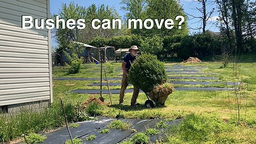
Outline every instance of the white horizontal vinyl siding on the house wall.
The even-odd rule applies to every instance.
[[[48,0],[0,0],[0,106],[51,100],[48,29],[21,29],[21,15],[50,17]]]

